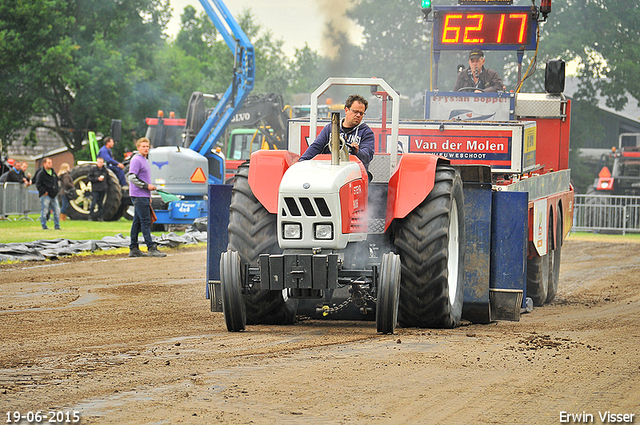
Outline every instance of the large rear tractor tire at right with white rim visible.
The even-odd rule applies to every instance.
[[[429,196],[394,226],[402,262],[398,322],[454,328],[462,317],[464,203],[459,172],[438,165]]]

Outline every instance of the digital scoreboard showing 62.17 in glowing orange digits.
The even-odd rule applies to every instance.
[[[534,50],[537,10],[532,6],[434,7],[434,50]]]

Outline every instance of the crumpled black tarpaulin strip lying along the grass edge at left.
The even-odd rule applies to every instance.
[[[153,241],[159,246],[176,247],[178,245],[193,245],[207,242],[207,232],[188,230],[184,235],[175,233],[153,236]],[[0,261],[43,261],[47,258],[57,258],[78,254],[83,251],[106,251],[109,249],[129,247],[131,238],[118,233],[115,236],[105,236],[101,240],[72,241],[69,239],[41,239],[35,242],[0,243]],[[144,245],[144,239],[140,238]]]

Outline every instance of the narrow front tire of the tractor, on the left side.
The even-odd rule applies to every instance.
[[[247,324],[247,312],[242,299],[240,256],[235,251],[226,251],[220,256],[220,290],[227,330],[243,331]]]

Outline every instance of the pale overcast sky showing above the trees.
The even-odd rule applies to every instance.
[[[326,12],[327,5],[330,5],[332,0],[223,1],[234,17],[237,17],[244,9],[251,8],[253,16],[263,30],[271,30],[276,39],[284,41],[283,49],[288,56],[293,57],[295,49],[303,48],[305,42],[312,50],[327,54],[322,48],[322,30],[325,27],[325,16],[318,5],[324,4]],[[340,3],[344,5],[348,2],[343,0]],[[188,5],[193,6],[198,12],[204,10],[199,0],[171,0],[173,18],[169,23],[170,35],[175,36],[178,32],[180,15],[185,6]],[[358,33],[355,30],[353,31],[352,41],[356,42],[357,37]]]

